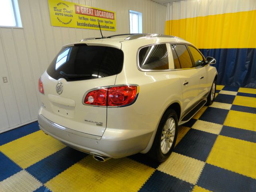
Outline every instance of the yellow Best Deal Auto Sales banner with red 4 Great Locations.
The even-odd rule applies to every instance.
[[[116,31],[116,12],[75,4],[62,0],[48,0],[52,26]]]

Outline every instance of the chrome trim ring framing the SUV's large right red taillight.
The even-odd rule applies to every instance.
[[[91,92],[91,91],[94,91],[94,90],[98,90],[98,89],[103,89],[103,88],[110,88],[110,87],[118,87],[118,86],[136,86],[137,87],[137,93],[136,93],[136,96],[133,100],[133,102],[131,102],[130,104],[127,104],[127,105],[122,105],[122,106],[98,106],[98,105],[88,105],[88,104],[85,104],[84,103],[84,99],[86,97],[86,95]],[[140,92],[140,86],[137,85],[137,84],[119,84],[119,85],[110,85],[110,86],[104,86],[104,87],[97,87],[97,88],[93,88],[93,89],[90,89],[88,91],[86,91],[84,93],[84,96],[82,98],[82,104],[83,105],[86,105],[86,106],[94,106],[94,107],[104,107],[104,108],[120,108],[120,107],[126,107],[126,106],[130,106],[132,104],[134,104],[134,102],[136,102],[137,98],[138,98],[138,95],[139,95],[139,92]]]

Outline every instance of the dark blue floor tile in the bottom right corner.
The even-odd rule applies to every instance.
[[[197,182],[198,186],[210,191],[255,192],[256,180],[210,164],[204,169]]]

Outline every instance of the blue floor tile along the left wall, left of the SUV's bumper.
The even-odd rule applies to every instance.
[[[38,122],[33,122],[22,127],[4,132],[0,134],[0,145],[6,144],[23,136],[26,136],[30,133],[36,132],[39,130]]]

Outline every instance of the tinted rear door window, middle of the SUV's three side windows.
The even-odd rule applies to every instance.
[[[193,64],[185,45],[173,45],[180,61],[181,68],[192,68]]]

